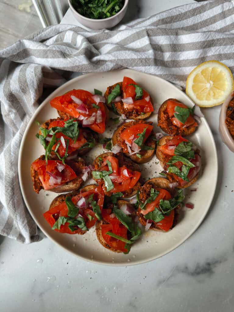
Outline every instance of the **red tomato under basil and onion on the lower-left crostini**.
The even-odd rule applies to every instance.
[[[97,221],[97,217],[95,216],[95,212],[93,212],[93,208],[91,206],[91,202],[88,202],[87,199],[90,195],[93,195],[93,200],[97,202],[97,204],[100,207],[100,210],[102,211],[103,202],[104,202],[104,192],[100,186],[93,188],[87,192],[83,192],[79,195],[76,195],[72,197],[72,202],[76,205],[77,202],[80,200],[81,197],[85,198],[85,207],[79,208],[78,214],[81,215],[84,220],[86,227],[89,229],[90,227],[93,227]],[[66,202],[62,202],[61,204],[49,209],[47,212],[43,214],[46,221],[50,224],[51,227],[53,227],[54,223],[59,217],[68,217],[68,208],[66,205]],[[91,220],[90,220],[91,217]],[[82,230],[79,227],[76,227],[76,230],[72,232],[69,229],[69,223],[66,222],[64,225],[61,225],[60,230],[55,229],[56,232],[60,233],[68,233],[68,234],[77,234],[81,233]]]

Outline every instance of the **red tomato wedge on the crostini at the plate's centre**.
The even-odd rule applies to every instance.
[[[119,167],[118,159],[113,156],[108,156],[105,159],[100,168],[100,171],[109,170],[108,166],[106,165],[107,160],[110,161],[113,170],[113,173],[111,173],[109,176],[113,177],[111,180],[114,185],[114,188],[112,188],[110,192],[111,193],[124,192],[133,188],[134,185],[139,180],[141,173],[139,171],[131,170],[125,166]],[[124,171],[125,169],[127,170],[127,174],[129,175],[129,177],[124,175],[124,173],[126,173],[126,171]]]

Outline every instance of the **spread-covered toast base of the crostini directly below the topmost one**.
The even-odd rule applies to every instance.
[[[152,131],[152,134],[147,138],[144,145],[147,145],[149,147],[152,147],[151,150],[141,150],[138,154],[141,155],[141,158],[137,157],[136,154],[129,155],[127,144],[124,142],[124,140],[121,137],[121,134],[123,131],[127,128],[130,128],[134,124],[152,124],[152,122],[147,122],[144,120],[139,121],[129,121],[124,124],[122,124],[119,128],[117,128],[112,136],[112,143],[113,145],[118,144],[123,148],[123,153],[127,156],[129,156],[135,163],[148,163],[150,159],[154,156],[154,149],[156,146],[155,141],[153,140],[154,131]]]

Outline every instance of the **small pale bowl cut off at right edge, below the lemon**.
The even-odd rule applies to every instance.
[[[221,134],[223,142],[227,145],[227,147],[234,152],[234,139],[232,138],[231,133],[227,129],[227,124],[225,123],[225,119],[227,116],[227,108],[230,103],[230,101],[234,97],[234,92],[227,97],[227,99],[224,101],[220,115],[219,115],[219,133]]]

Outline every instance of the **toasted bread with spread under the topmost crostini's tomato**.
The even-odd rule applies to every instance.
[[[121,90],[121,98],[123,98],[123,92],[122,92],[122,82],[117,82],[114,85],[110,85],[107,89],[106,92],[104,94],[105,99],[106,99],[106,103],[108,103],[108,95],[111,94],[112,90],[116,87],[116,85],[120,86],[120,90]],[[150,97],[150,101],[153,104],[153,100]],[[124,103],[122,101],[119,102],[115,102],[115,103],[109,103],[107,104],[107,106],[112,109],[114,111],[114,113],[119,114],[119,115],[125,115],[128,119],[134,119],[134,120],[139,120],[139,119],[147,119],[149,118],[149,116],[151,115],[150,113],[144,113],[141,114],[135,110],[130,111],[127,110],[126,108],[124,108]]]

